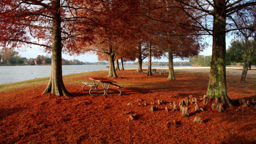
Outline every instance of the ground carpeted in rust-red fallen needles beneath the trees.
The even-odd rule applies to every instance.
[[[227,71],[228,96],[256,100],[255,70],[248,73],[246,84],[239,82],[241,72]],[[254,105],[236,111],[241,105],[234,104],[219,113],[212,110],[213,101],[207,106],[200,101],[204,111],[195,112],[195,105],[190,104],[188,117],[173,112],[170,102],[179,104],[189,95],[203,97],[209,80],[209,70],[175,73],[177,80],[173,81],[166,80],[168,75],[146,76],[134,70],[117,71],[118,78],[106,78],[106,70],[68,75],[63,80],[69,98],[42,95],[48,83],[45,79],[13,83],[9,89],[0,85],[0,143],[256,143]],[[114,87],[108,91],[113,96],[89,95],[82,90],[82,82],[92,84],[89,77],[116,81],[124,87],[122,95]],[[157,100],[163,104],[158,105]],[[133,105],[128,106],[129,102]],[[145,102],[149,105],[144,106]],[[159,110],[150,112],[152,105]],[[171,110],[167,112],[165,107]],[[130,120],[135,114],[135,120]],[[194,123],[195,116],[204,122]]]

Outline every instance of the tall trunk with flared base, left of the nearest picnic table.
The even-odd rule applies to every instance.
[[[70,93],[66,90],[62,79],[61,65],[61,18],[60,18],[60,0],[53,1],[54,10],[52,20],[52,64],[49,83],[43,94],[52,92],[54,95],[68,96]]]

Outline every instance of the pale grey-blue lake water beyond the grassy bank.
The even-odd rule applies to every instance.
[[[95,70],[106,70],[108,65],[62,65],[62,75],[73,73],[82,73]],[[121,68],[121,65],[119,65]],[[159,68],[164,66],[152,66],[152,68]],[[183,66],[174,66],[183,67]],[[190,67],[190,66],[189,66]],[[137,65],[124,65],[125,68],[137,68]],[[148,68],[148,66],[142,66]],[[50,65],[36,65],[36,66],[0,66],[0,84],[13,83],[25,81],[35,78],[49,77],[51,75]]]

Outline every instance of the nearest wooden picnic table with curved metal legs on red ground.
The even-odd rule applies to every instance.
[[[91,89],[89,90],[90,95],[97,95],[97,94],[92,94],[91,91],[98,90],[98,91],[104,91],[104,94],[98,94],[98,95],[102,96],[102,95],[106,94],[107,96],[111,96],[107,93],[109,88],[110,88],[110,85],[113,85],[114,87],[116,87],[120,91],[119,95],[121,95],[121,88],[123,88],[123,87],[121,87],[119,85],[116,85],[116,84],[113,84],[113,83],[116,83],[116,82],[97,80],[97,79],[93,79],[93,78],[89,78],[89,79],[91,79],[93,81],[93,84],[90,84],[90,83],[87,83],[87,82],[82,82],[82,83],[84,84],[84,86],[87,85],[87,86],[91,87]],[[95,82],[97,82],[97,84]],[[99,86],[100,83],[102,84],[103,89],[98,89],[98,86]],[[83,90],[84,90],[84,86],[83,86]],[[106,86],[107,86],[107,88],[106,88]],[[88,91],[88,90],[84,90],[84,91]]]

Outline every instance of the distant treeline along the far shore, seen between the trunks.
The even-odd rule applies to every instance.
[[[232,47],[229,47],[227,50],[226,54],[226,65],[232,65],[232,66],[240,66],[243,64],[243,58],[242,56],[240,57],[235,57],[233,55],[239,55],[239,54],[234,54],[232,53]],[[240,54],[242,55],[242,54]],[[233,56],[233,57],[232,57]],[[255,57],[252,57],[252,62],[251,64],[255,65]],[[19,64],[19,65],[51,65],[52,63],[52,57],[49,55],[38,55],[36,58],[29,58],[27,59],[26,57],[21,57],[19,55],[19,52],[16,52],[14,50],[8,50],[8,51],[0,51],[0,64],[1,65],[14,65],[14,64]],[[204,56],[204,55],[199,55],[199,56],[194,56],[189,58],[189,61],[178,61],[178,62],[173,62],[173,66],[194,66],[194,67],[210,67],[212,63],[212,56]],[[109,65],[108,62],[83,62],[79,61],[76,59],[73,60],[65,60],[62,58],[62,65]],[[138,62],[124,62],[124,65],[138,65]],[[143,66],[148,66],[148,61],[142,61]],[[169,66],[168,62],[158,62],[158,61],[153,61],[151,62],[152,66]]]

